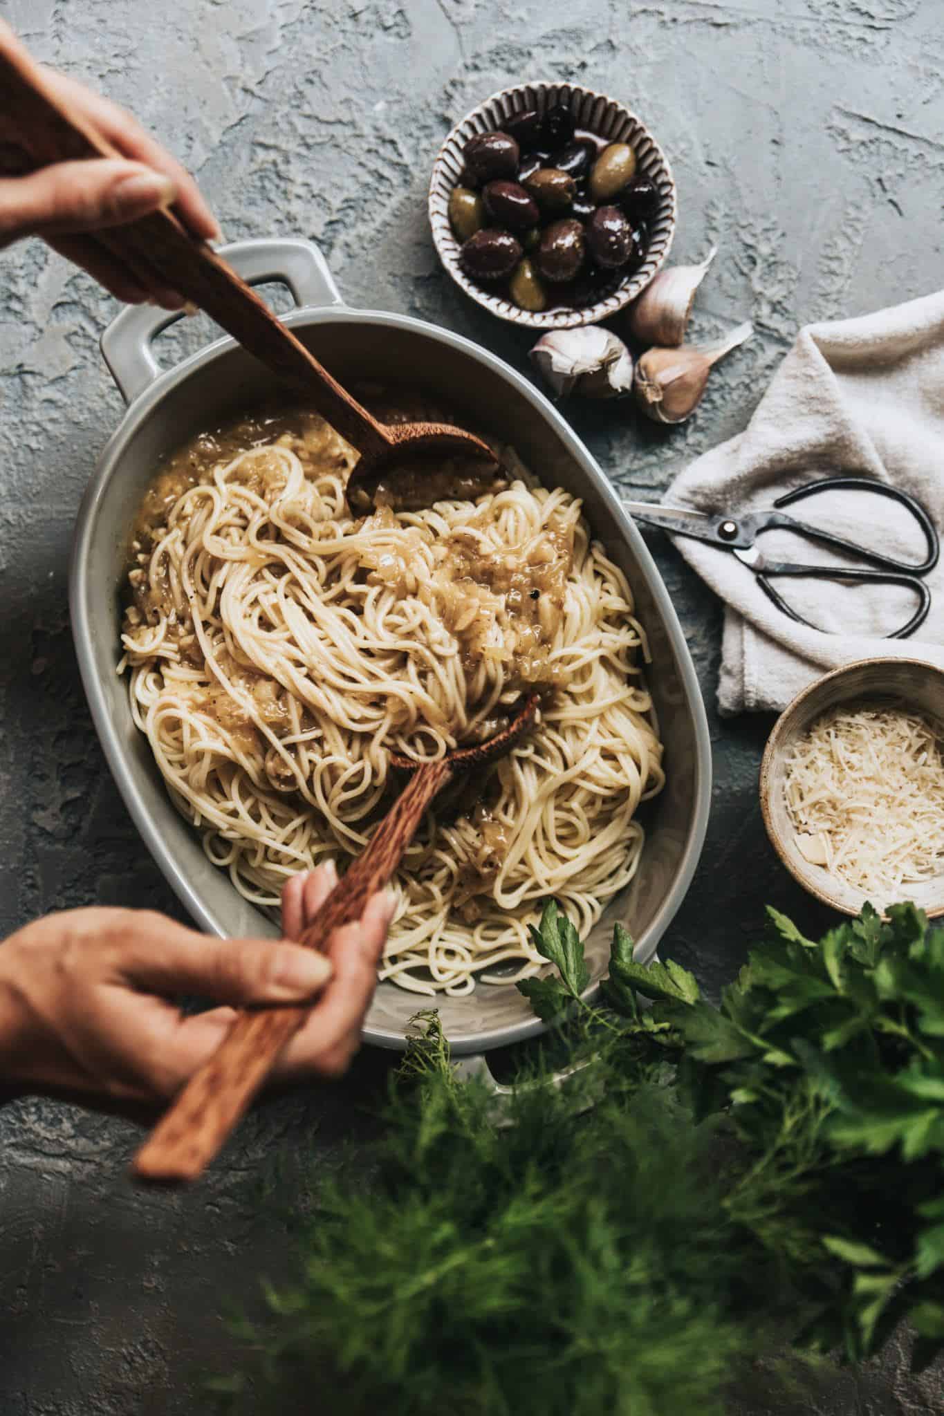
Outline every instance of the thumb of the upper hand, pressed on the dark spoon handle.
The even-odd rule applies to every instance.
[[[143,163],[95,157],[0,178],[0,242],[47,232],[102,231],[175,198],[170,177]]]

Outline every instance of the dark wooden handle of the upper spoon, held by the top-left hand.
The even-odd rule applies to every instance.
[[[0,52],[0,173],[33,171],[51,163],[122,157],[81,113],[52,95],[42,71],[25,54]],[[205,241],[171,211],[156,211],[95,239],[137,275],[177,290],[205,310],[256,358],[293,384],[306,401],[358,452],[386,452],[392,435],[351,398],[267,304]]]

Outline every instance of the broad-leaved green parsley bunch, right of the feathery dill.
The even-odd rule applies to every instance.
[[[675,1054],[693,1117],[730,1124],[723,1208],[808,1311],[801,1340],[859,1361],[907,1318],[923,1366],[944,1349],[944,929],[913,905],[818,942],[769,918],[719,1007],[678,964],[637,964],[617,925],[606,1005]]]

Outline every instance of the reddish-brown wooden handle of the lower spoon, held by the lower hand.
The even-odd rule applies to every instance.
[[[416,834],[423,811],[451,776],[449,762],[422,766],[347,871],[299,943],[323,949],[331,933],[364,913],[371,895],[389,881]],[[330,984],[328,984],[330,987]],[[243,1114],[309,1008],[243,1012],[225,1039],[180,1092],[134,1157],[133,1174],[187,1181],[209,1164]]]

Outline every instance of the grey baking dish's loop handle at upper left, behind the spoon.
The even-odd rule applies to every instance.
[[[218,253],[248,285],[277,280],[286,285],[299,307],[341,304],[327,262],[311,241],[273,236],[234,241]],[[102,334],[102,357],[126,404],[133,404],[161,372],[153,344],[159,334],[184,316],[156,310],[153,304],[130,304]]]

